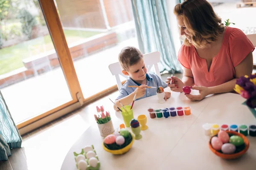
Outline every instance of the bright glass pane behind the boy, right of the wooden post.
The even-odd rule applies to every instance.
[[[108,65],[123,47],[138,47],[131,0],[55,2],[85,100],[109,91],[116,79]]]

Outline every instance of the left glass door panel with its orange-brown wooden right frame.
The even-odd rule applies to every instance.
[[[18,128],[83,99],[65,51],[76,31],[63,33],[53,0],[41,2],[0,5],[0,89]]]

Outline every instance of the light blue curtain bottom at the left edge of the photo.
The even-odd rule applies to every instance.
[[[21,136],[0,91],[0,161],[11,156],[12,148],[21,147]]]

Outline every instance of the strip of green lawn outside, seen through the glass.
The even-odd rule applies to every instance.
[[[72,42],[99,34],[99,32],[64,30],[64,34],[69,45]],[[0,75],[23,67],[23,59],[52,49],[54,46],[49,35],[2,48],[0,49]]]

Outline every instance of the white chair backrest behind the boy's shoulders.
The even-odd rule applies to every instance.
[[[157,65],[157,63],[160,62],[160,52],[155,51],[152,53],[144,54],[143,58],[144,58],[144,62],[145,62],[145,65],[146,65],[148,71],[150,71],[152,66],[154,65],[155,74],[157,74],[157,76],[159,76],[161,78],[161,74],[160,74],[160,71],[159,71],[159,68]],[[119,75],[121,75],[125,78],[128,78],[128,76],[125,76],[124,74],[122,74],[122,68],[121,68],[119,62],[110,64],[108,66],[108,68],[111,71],[111,74],[116,77],[117,87],[118,87],[118,90],[120,91],[120,89],[122,87],[122,83],[121,83]]]

